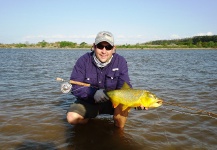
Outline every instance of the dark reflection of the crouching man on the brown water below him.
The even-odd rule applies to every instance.
[[[66,136],[68,149],[141,149],[136,139],[114,126],[111,118],[91,119],[87,124],[71,126]]]

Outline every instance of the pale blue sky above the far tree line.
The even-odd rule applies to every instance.
[[[217,35],[217,0],[0,0],[0,43],[115,44]]]

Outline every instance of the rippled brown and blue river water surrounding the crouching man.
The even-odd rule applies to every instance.
[[[216,50],[117,50],[134,88],[162,98],[161,107],[129,113],[123,130],[112,116],[71,126],[75,100],[60,92],[89,50],[0,49],[0,149],[217,149]]]

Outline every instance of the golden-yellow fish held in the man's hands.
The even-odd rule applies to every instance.
[[[119,90],[107,91],[114,108],[119,104],[123,105],[122,110],[128,107],[154,108],[162,105],[163,100],[146,90],[132,89],[127,83]]]

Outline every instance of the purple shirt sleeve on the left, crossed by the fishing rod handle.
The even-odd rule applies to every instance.
[[[71,73],[70,80],[84,82],[85,81],[85,75],[86,75],[86,66],[85,64],[88,63],[88,60],[85,59],[85,57],[80,57]],[[71,93],[76,96],[79,99],[88,100],[88,102],[93,103],[94,102],[94,94],[96,93],[98,89],[94,87],[85,87],[85,86],[79,86],[79,85],[72,85]]]

